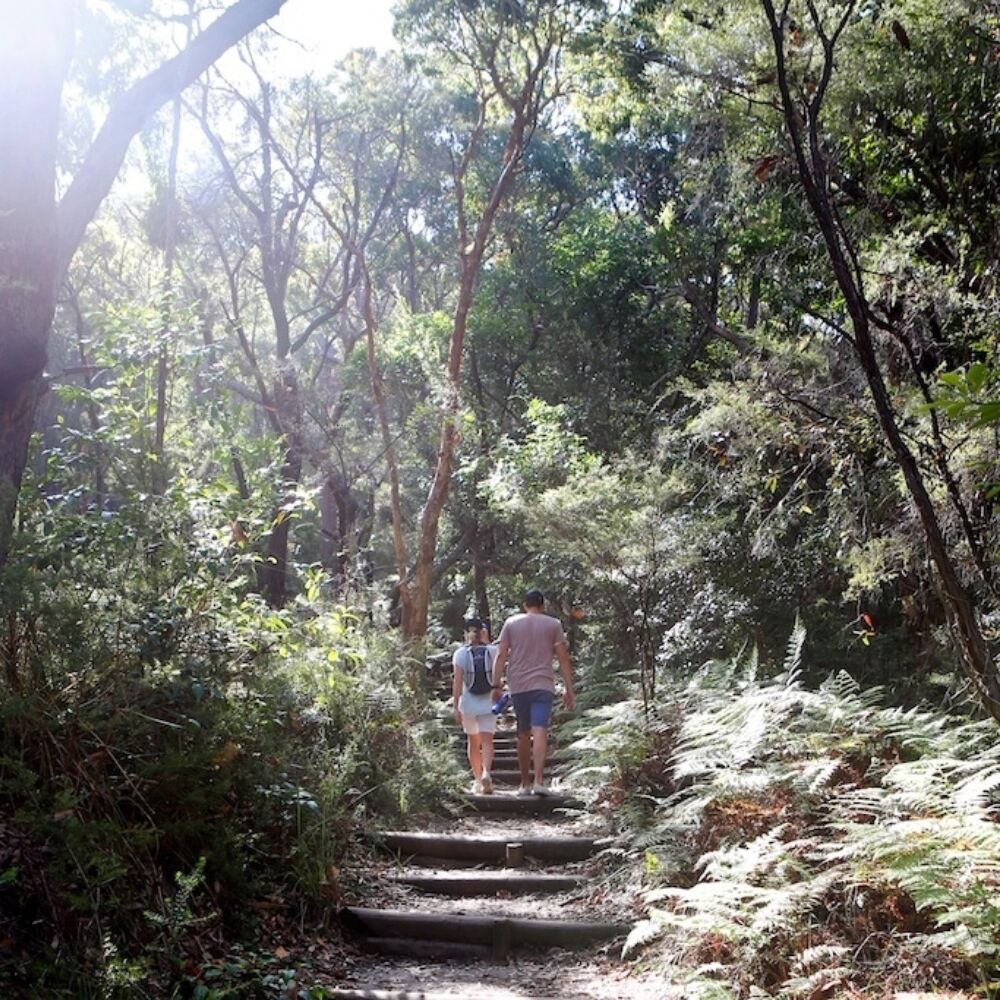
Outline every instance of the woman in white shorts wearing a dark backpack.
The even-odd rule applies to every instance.
[[[496,647],[489,645],[489,633],[479,618],[465,621],[465,645],[455,650],[452,696],[455,721],[468,737],[467,753],[472,768],[472,791],[492,795],[493,733],[497,717],[493,714],[492,686]]]

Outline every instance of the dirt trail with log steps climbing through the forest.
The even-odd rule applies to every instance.
[[[556,739],[558,736],[556,735]],[[370,958],[337,1000],[624,1000],[662,997],[618,955],[638,916],[599,855],[597,818],[565,793],[521,798],[516,736],[498,728],[496,792],[420,830],[385,830],[395,862],[370,872],[345,923]],[[566,767],[556,741],[549,773]],[[455,751],[464,764],[464,738]],[[377,905],[371,905],[372,902]]]

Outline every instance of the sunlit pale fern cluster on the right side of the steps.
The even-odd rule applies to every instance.
[[[661,956],[689,997],[991,994],[995,727],[886,707],[846,674],[810,690],[803,639],[797,626],[777,676],[754,658],[711,663],[670,694],[668,791],[642,793],[632,838],[664,863],[644,865],[647,917],[626,954]],[[613,717],[582,752],[648,748],[634,705]]]

